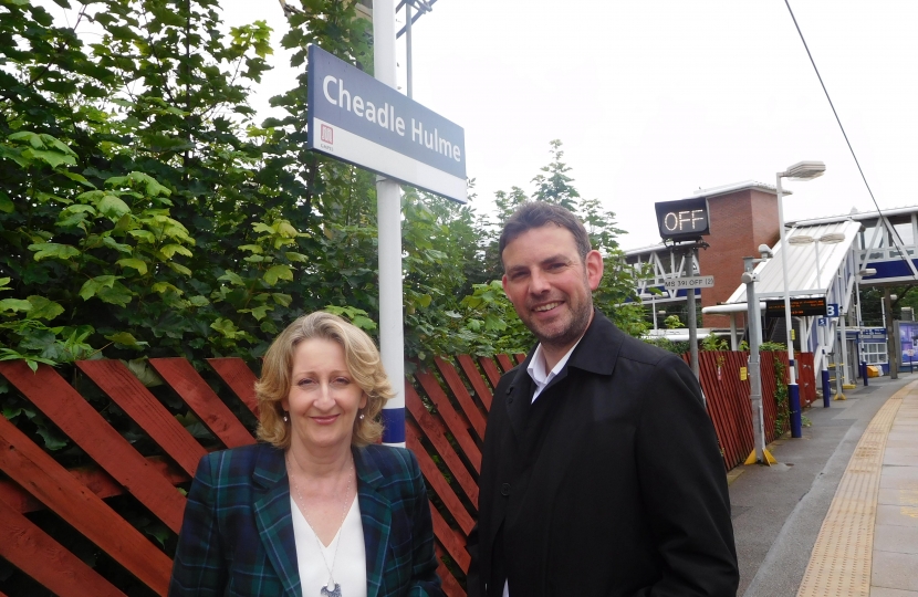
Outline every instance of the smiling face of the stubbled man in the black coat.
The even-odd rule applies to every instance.
[[[564,354],[593,317],[593,295],[603,277],[603,259],[577,254],[574,235],[553,223],[522,232],[501,255],[503,291],[543,347]]]

